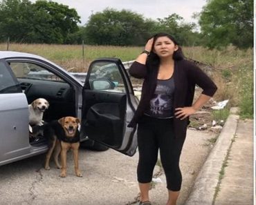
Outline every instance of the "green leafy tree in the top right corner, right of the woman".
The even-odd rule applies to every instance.
[[[253,0],[208,0],[199,25],[209,48],[253,47]]]

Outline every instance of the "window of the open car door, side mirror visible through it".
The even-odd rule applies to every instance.
[[[96,62],[89,78],[91,89],[109,92],[125,92],[124,82],[116,64]]]

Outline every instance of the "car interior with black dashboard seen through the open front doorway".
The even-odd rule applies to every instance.
[[[9,62],[9,65],[26,95],[28,104],[38,98],[49,102],[50,106],[43,117],[46,123],[65,116],[76,117],[75,90],[70,84],[37,64],[15,61]],[[42,135],[42,132],[40,133]],[[35,139],[30,138],[30,144],[33,146],[40,146],[44,141],[43,136],[37,136]]]

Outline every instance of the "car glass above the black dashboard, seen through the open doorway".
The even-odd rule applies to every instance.
[[[42,66],[27,62],[9,62],[17,78],[39,79],[48,81],[63,81]]]

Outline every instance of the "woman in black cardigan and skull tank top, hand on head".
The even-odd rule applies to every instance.
[[[158,149],[167,182],[167,205],[176,205],[182,181],[179,159],[189,116],[214,95],[217,86],[200,68],[183,58],[179,44],[165,33],[147,41],[129,73],[144,79],[140,103],[129,124],[138,124],[140,205],[150,205],[149,188]],[[195,85],[203,91],[192,104]]]

